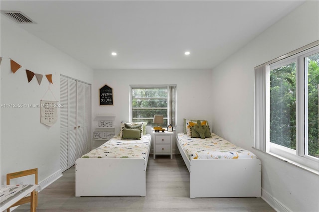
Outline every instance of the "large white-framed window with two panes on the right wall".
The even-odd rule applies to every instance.
[[[255,147],[318,172],[318,44],[256,67],[255,80]]]

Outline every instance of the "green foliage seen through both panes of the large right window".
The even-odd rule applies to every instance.
[[[308,60],[308,155],[319,158],[319,54]],[[296,64],[270,73],[270,141],[296,149]]]

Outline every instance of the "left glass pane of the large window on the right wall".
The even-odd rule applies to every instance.
[[[296,61],[280,61],[270,66],[270,138],[296,150]]]

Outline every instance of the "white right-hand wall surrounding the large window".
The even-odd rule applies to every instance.
[[[271,13],[271,11],[270,11]],[[307,1],[212,72],[213,131],[262,161],[262,196],[278,211],[319,211],[319,176],[256,151],[254,67],[319,39],[319,1]]]

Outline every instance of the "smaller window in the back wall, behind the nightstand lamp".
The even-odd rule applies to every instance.
[[[154,126],[154,115],[163,115],[164,123],[175,125],[176,86],[131,86],[131,117],[133,122],[148,121]]]

